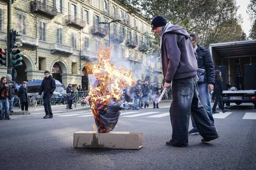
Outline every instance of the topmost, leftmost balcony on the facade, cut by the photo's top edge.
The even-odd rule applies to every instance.
[[[52,18],[57,16],[57,8],[53,8],[52,6],[39,0],[34,0],[31,2],[31,12],[39,12]]]

